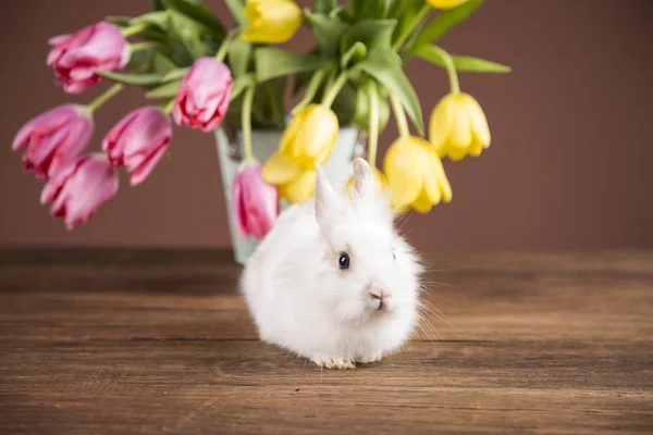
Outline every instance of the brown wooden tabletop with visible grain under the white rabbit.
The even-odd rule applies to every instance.
[[[428,259],[453,327],[340,372],[257,340],[229,252],[0,251],[0,433],[653,433],[653,252]]]

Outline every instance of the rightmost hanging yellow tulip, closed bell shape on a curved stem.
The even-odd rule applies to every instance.
[[[429,140],[441,158],[478,157],[490,147],[488,120],[478,101],[464,92],[444,97],[431,112]]]

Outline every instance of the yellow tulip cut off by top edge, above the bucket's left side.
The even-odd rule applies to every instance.
[[[249,42],[285,42],[301,25],[301,11],[292,0],[247,0],[245,17],[241,36]]]

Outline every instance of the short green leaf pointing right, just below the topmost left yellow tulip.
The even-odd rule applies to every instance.
[[[262,47],[255,51],[256,79],[258,83],[284,77],[305,71],[312,71],[329,63],[329,60],[306,54],[296,54],[273,47]]]

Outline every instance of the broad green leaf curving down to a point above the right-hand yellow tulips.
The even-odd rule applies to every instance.
[[[406,109],[408,116],[423,135],[424,126],[421,107],[417,94],[402,70],[402,62],[394,51],[374,50],[370,51],[367,59],[359,62],[356,69],[365,71],[383,85],[390,92],[395,95]]]

